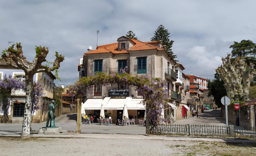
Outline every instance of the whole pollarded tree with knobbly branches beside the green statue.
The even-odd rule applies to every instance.
[[[17,69],[22,69],[25,72],[26,79],[26,102],[24,117],[22,123],[22,132],[21,138],[30,137],[30,122],[31,122],[31,111],[32,111],[32,99],[33,99],[33,75],[39,72],[51,72],[55,69],[60,68],[60,63],[64,61],[64,56],[59,55],[55,52],[55,61],[53,66],[49,67],[48,65],[42,65],[46,61],[46,56],[49,53],[49,50],[45,46],[36,46],[36,57],[33,59],[33,62],[27,61],[26,57],[23,55],[21,43],[9,46],[8,49],[3,50],[2,58],[7,62],[7,64],[13,66]]]

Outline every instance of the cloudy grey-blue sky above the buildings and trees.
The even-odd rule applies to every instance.
[[[35,45],[65,55],[59,76],[69,85],[78,80],[79,58],[91,45],[117,42],[132,30],[139,40],[150,41],[159,25],[174,40],[174,54],[185,74],[213,79],[229,46],[243,39],[256,43],[255,0],[11,0],[0,1],[0,49],[21,42],[29,61]],[[8,43],[11,42],[11,43]]]

